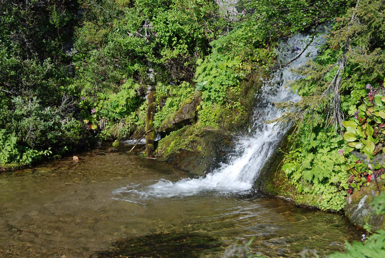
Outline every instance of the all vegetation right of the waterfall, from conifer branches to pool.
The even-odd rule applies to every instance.
[[[385,143],[383,11],[382,1],[364,0],[338,18],[322,53],[298,70],[305,78],[291,85],[302,100],[281,104],[294,110],[286,118],[300,119],[282,169],[297,198],[324,210],[341,210],[347,192],[384,178],[375,160]]]

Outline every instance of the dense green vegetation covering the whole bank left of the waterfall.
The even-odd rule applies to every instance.
[[[350,5],[242,0],[229,13],[214,0],[2,1],[0,164],[139,138],[150,127],[239,130],[279,39]],[[146,130],[149,86],[155,112]],[[179,118],[191,103],[189,119]]]

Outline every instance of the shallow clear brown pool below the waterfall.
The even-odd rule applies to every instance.
[[[132,198],[171,166],[94,150],[0,174],[0,257],[221,257],[232,243],[268,257],[321,255],[359,240],[340,214],[257,195],[203,191],[193,196]],[[229,182],[231,183],[231,182]]]

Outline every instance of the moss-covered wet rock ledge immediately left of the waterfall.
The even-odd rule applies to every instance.
[[[185,100],[157,129],[162,136],[155,151],[157,158],[194,177],[204,176],[228,161],[235,151],[236,135],[251,123],[254,95],[262,85],[256,77],[242,82],[239,92],[229,92],[229,99],[238,100],[239,105],[217,107],[211,114],[215,116],[211,126],[199,116],[201,96]]]

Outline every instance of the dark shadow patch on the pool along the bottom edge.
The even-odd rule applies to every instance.
[[[222,244],[201,233],[164,233],[122,239],[112,246],[112,250],[102,251],[97,257],[198,258],[204,250],[219,251]]]

